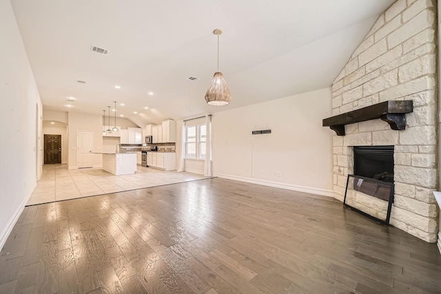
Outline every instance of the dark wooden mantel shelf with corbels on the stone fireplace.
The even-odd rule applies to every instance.
[[[406,129],[406,116],[413,112],[413,101],[384,101],[371,106],[331,116],[323,120],[323,127],[330,127],[338,136],[345,136],[345,125],[380,118],[389,123],[391,129]]]

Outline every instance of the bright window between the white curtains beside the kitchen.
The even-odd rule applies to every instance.
[[[187,140],[185,143],[185,158],[205,159],[205,146],[207,144],[207,127],[203,125],[192,125],[185,128]]]

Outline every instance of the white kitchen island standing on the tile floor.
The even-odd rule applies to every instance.
[[[116,176],[134,174],[136,153],[103,153],[103,169]]]

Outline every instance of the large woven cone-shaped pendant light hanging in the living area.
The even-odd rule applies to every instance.
[[[232,101],[232,94],[229,92],[227,82],[223,78],[222,72],[219,72],[219,35],[222,31],[216,29],[213,34],[218,36],[218,71],[214,73],[212,83],[210,83],[207,93],[205,94],[205,101],[209,105],[223,106],[228,105]]]

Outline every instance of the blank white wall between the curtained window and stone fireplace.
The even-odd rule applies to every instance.
[[[330,88],[216,112],[214,176],[332,196],[329,116]],[[252,135],[260,129],[271,134]]]

